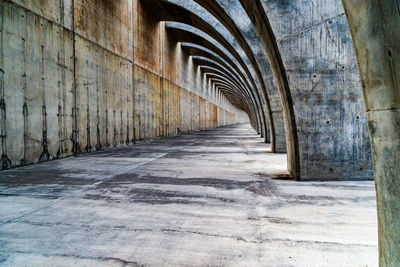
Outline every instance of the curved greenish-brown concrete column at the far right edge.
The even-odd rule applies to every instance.
[[[375,167],[379,262],[400,265],[400,2],[343,0],[356,48]]]

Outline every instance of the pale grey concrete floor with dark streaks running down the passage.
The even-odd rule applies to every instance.
[[[377,265],[373,182],[282,179],[261,141],[242,124],[1,172],[0,265]]]

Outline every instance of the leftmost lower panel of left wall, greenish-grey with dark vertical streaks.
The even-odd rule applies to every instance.
[[[68,156],[72,34],[14,4],[1,5],[6,154],[13,166]]]

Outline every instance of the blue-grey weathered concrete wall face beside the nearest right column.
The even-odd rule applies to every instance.
[[[302,179],[372,179],[361,83],[341,1],[262,2],[289,80]]]

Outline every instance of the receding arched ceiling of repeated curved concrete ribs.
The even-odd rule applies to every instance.
[[[261,5],[259,1],[250,0],[238,0],[232,5],[242,5],[250,15],[246,21],[254,23],[255,18],[249,11],[249,6],[255,6],[252,2],[258,2]],[[237,20],[225,10],[226,7],[224,9],[217,0],[194,0],[193,2],[146,0],[142,3],[151,10],[157,10],[155,16],[159,21],[167,22],[168,34],[171,34],[177,42],[186,43],[182,45],[182,48],[193,58],[196,65],[203,68],[208,66],[221,72],[218,75],[224,77],[225,82],[228,83],[225,83],[224,86],[230,85],[230,90],[224,88],[221,92],[227,96],[235,93],[236,102],[248,107],[249,116],[255,118],[257,129],[266,140],[267,132],[269,132],[271,148],[274,152],[275,126],[268,90],[263,77],[265,71],[261,71],[249,41],[246,40],[240,27],[236,24]],[[264,10],[258,12],[264,12]],[[261,15],[265,17],[264,20],[268,20],[265,14]],[[297,177],[299,155],[296,124],[290,90],[279,50],[276,44],[274,45],[275,38],[272,30],[268,31],[268,27],[262,28],[255,23],[253,32],[260,35],[259,43],[264,45],[274,74],[280,96],[280,110],[283,111],[289,170]],[[265,39],[269,39],[268,42]],[[260,55],[260,51],[257,53]],[[222,86],[218,86],[218,88],[222,88]],[[273,89],[270,88],[270,90]]]

